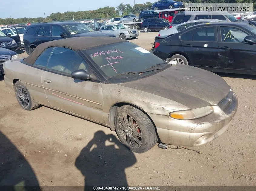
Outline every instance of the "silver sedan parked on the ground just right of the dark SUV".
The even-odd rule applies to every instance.
[[[101,31],[108,32],[116,35],[116,38],[123,40],[135,39],[139,36],[138,30],[125,28],[123,24],[106,24],[101,27]]]

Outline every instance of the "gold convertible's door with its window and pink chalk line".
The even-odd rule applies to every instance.
[[[77,52],[54,47],[41,78],[46,97],[52,107],[104,123],[101,83],[71,78],[78,69],[90,72]]]

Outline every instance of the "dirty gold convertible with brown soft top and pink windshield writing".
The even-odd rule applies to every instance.
[[[238,107],[220,76],[111,37],[42,43],[3,68],[23,109],[44,105],[108,126],[137,153],[157,141],[205,144],[228,128]]]

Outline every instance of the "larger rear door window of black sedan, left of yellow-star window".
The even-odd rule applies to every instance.
[[[214,42],[214,27],[202,27],[194,29],[193,41]]]

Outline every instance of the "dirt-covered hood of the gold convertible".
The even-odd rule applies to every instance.
[[[150,77],[119,85],[176,101],[190,109],[218,104],[230,91],[220,76],[178,64]]]

